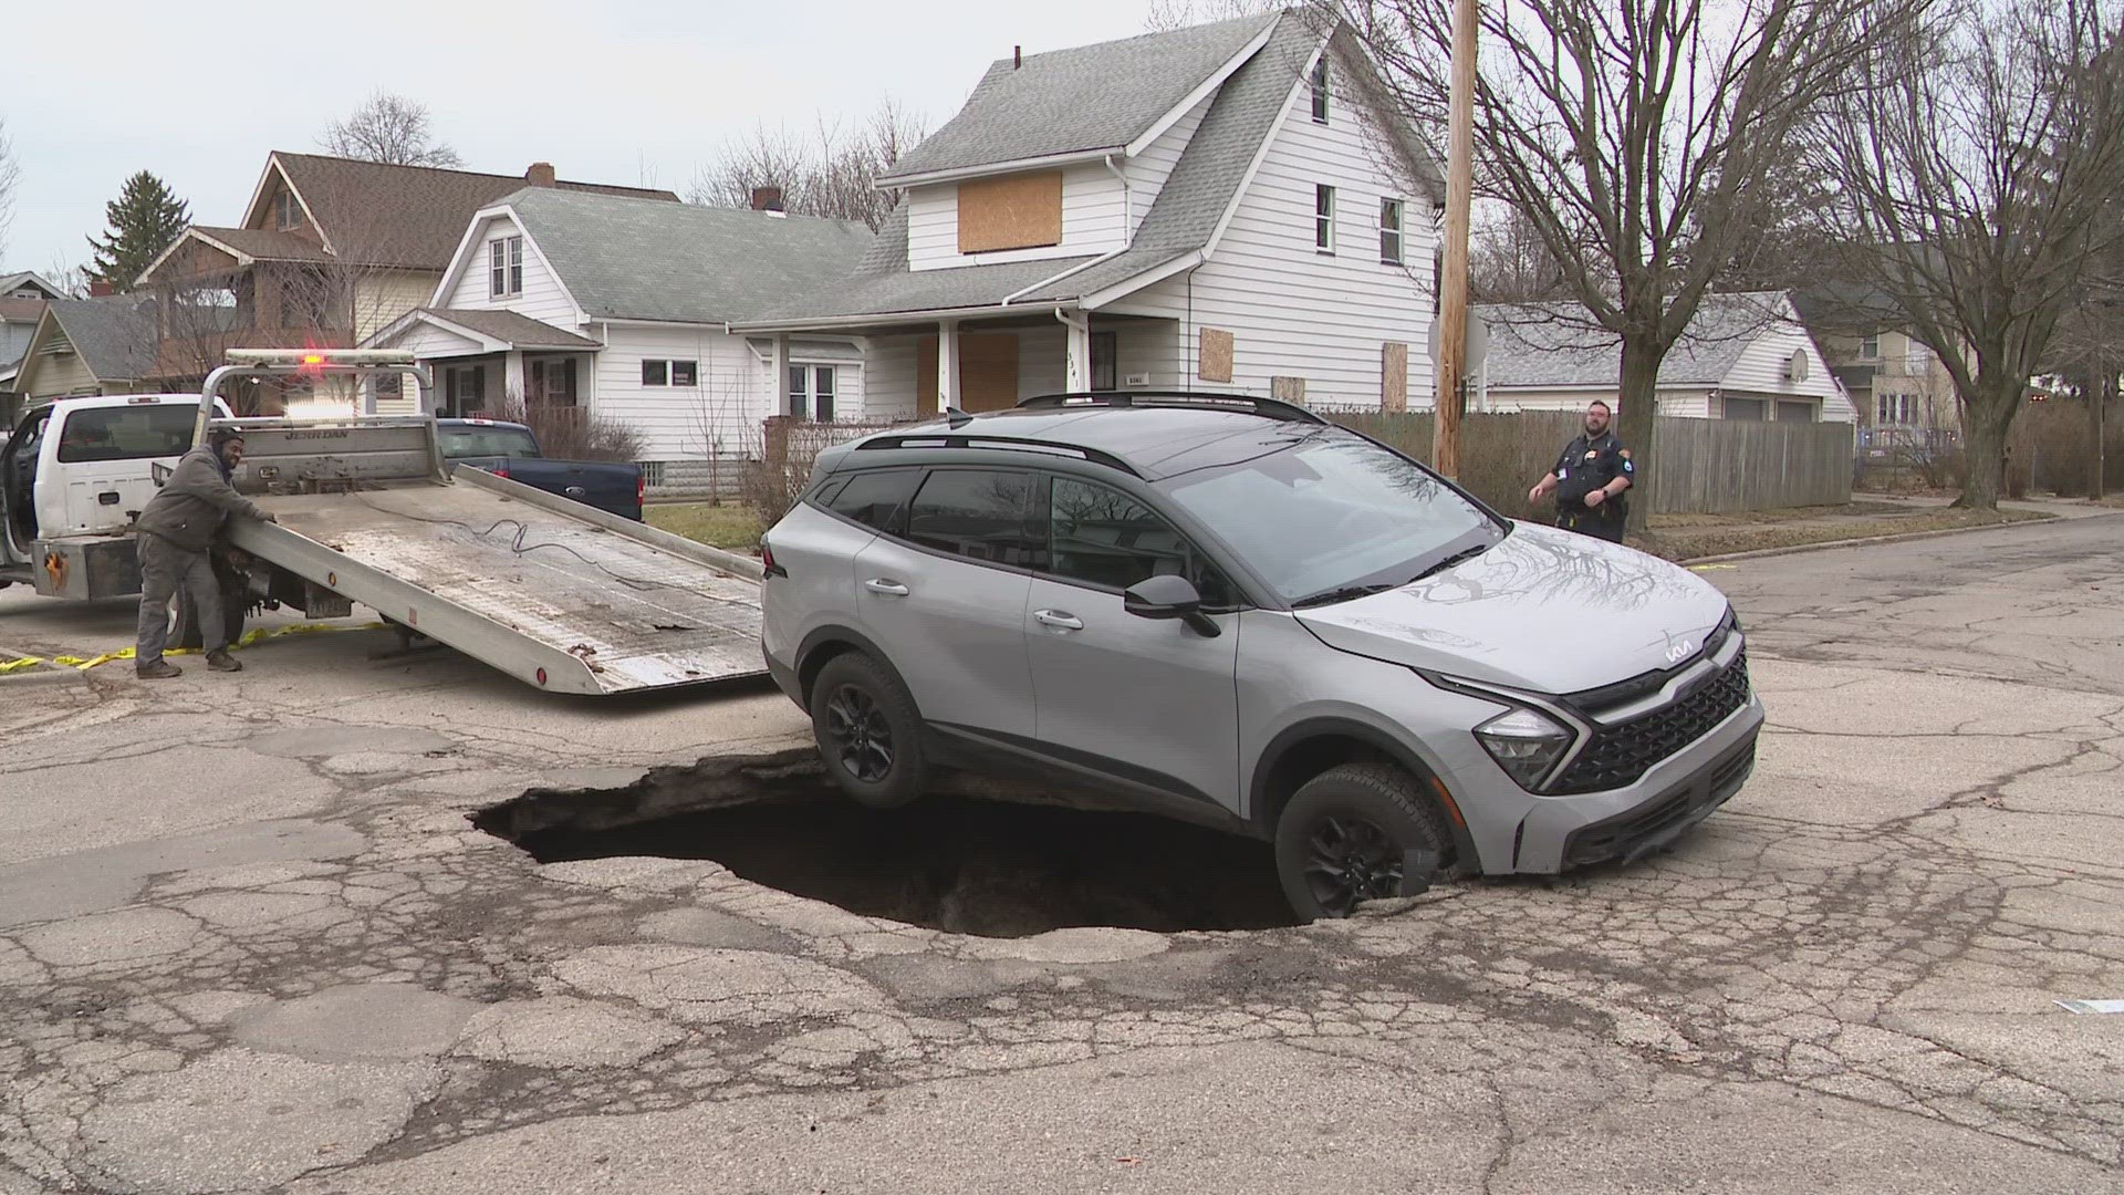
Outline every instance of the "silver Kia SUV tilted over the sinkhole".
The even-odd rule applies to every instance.
[[[1034,398],[830,449],[765,651],[854,800],[1011,772],[1274,842],[1291,908],[1635,859],[1754,768],[1712,585],[1281,402]]]

